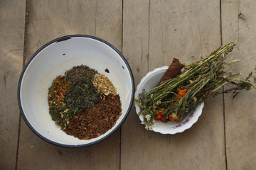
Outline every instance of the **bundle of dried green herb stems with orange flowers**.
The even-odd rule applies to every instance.
[[[228,53],[233,50],[236,42],[230,42],[212,52],[208,57],[193,64],[188,64],[185,71],[178,77],[161,82],[150,91],[139,94],[135,101],[142,108],[139,114],[144,115],[146,129],[151,130],[155,120],[178,121],[182,120],[188,111],[211,96],[232,92],[237,95],[241,90],[256,89],[248,78],[235,77],[225,68],[233,62],[225,62]],[[225,84],[234,84],[235,87],[218,92]]]

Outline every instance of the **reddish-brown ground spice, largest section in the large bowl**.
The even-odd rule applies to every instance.
[[[110,130],[121,115],[121,101],[119,95],[103,96],[95,107],[69,119],[68,128],[64,131],[68,135],[80,140],[90,140]]]

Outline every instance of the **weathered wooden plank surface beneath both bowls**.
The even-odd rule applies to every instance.
[[[209,99],[198,122],[177,135],[144,130],[132,108],[107,140],[78,149],[37,137],[20,117],[16,96],[23,63],[70,34],[117,47],[136,85],[174,57],[195,62],[238,39],[230,57],[240,62],[232,69],[256,77],[255,8],[254,0],[1,0],[0,169],[255,169],[255,90]]]

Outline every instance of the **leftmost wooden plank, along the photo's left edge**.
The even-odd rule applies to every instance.
[[[0,1],[0,169],[15,169],[26,1]]]

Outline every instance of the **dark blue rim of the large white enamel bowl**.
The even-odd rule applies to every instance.
[[[123,60],[124,64],[126,65],[127,69],[128,69],[128,72],[129,72],[129,75],[130,75],[130,79],[131,79],[131,83],[132,83],[132,96],[131,96],[131,99],[129,101],[129,106],[128,106],[128,109],[127,109],[127,112],[124,113],[124,118],[120,121],[119,125],[117,125],[116,128],[114,128],[109,134],[105,135],[104,137],[100,138],[99,140],[95,140],[94,142],[89,142],[89,143],[86,143],[86,144],[82,144],[82,145],[65,145],[65,144],[62,144],[62,143],[59,143],[59,142],[54,142],[53,140],[49,140],[47,137],[44,137],[43,135],[41,135],[39,132],[37,132],[33,126],[31,125],[31,123],[28,122],[27,118],[26,118],[26,114],[25,112],[23,111],[23,108],[21,106],[21,82],[23,80],[23,76],[24,76],[24,73],[26,72],[26,69],[28,68],[29,64],[31,64],[31,62],[33,61],[33,59],[38,55],[39,52],[41,52],[42,50],[44,50],[46,47],[48,47],[49,45],[52,45],[54,42],[61,42],[61,41],[65,41],[65,40],[69,40],[71,38],[90,38],[92,40],[97,40],[97,41],[100,41],[102,43],[104,43],[105,45],[107,45],[108,47],[112,48],[112,50],[114,50],[115,52],[117,52],[117,54],[119,55],[119,57],[121,57],[121,59]],[[85,146],[89,146],[89,145],[93,145],[97,142],[101,142],[102,140],[105,140],[107,137],[110,137],[110,135],[112,135],[123,123],[124,121],[127,119],[127,116],[129,115],[131,109],[132,109],[132,106],[133,106],[133,103],[134,103],[134,91],[135,91],[135,85],[134,85],[134,76],[132,74],[132,69],[131,67],[129,66],[129,63],[127,62],[127,60],[125,59],[124,55],[122,55],[122,53],[117,50],[116,47],[114,47],[114,45],[110,44],[110,42],[107,42],[106,40],[102,40],[101,38],[97,38],[95,36],[92,36],[92,35],[82,35],[82,34],[75,34],[75,35],[65,35],[65,36],[62,36],[60,38],[55,38],[54,40],[51,40],[50,42],[47,42],[45,45],[43,45],[42,47],[40,47],[38,50],[36,50],[36,52],[33,53],[33,55],[31,55],[31,57],[28,59],[28,61],[26,62],[26,64],[23,66],[23,69],[22,69],[22,72],[21,72],[21,75],[19,77],[19,80],[18,80],[18,107],[19,107],[19,110],[20,110],[20,114],[22,115],[23,117],[23,120],[25,120],[26,122],[26,125],[28,125],[28,127],[38,136],[40,137],[41,139],[45,140],[46,142],[52,144],[52,145],[57,145],[57,146],[60,146],[60,147],[85,147]]]

